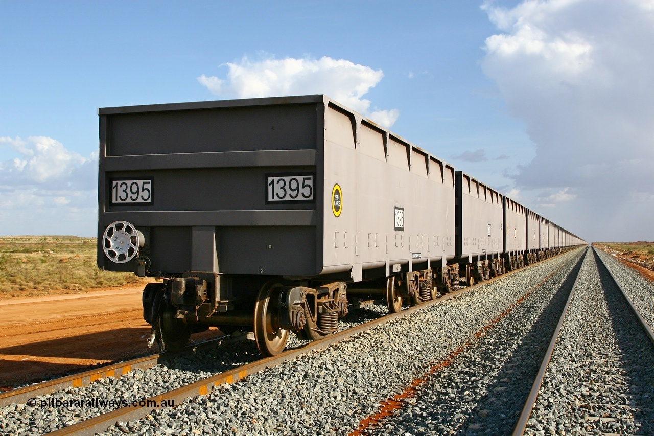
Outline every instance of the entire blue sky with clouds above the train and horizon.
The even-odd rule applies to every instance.
[[[95,234],[97,108],[325,93],[589,241],[654,239],[654,3],[2,1],[0,235]]]

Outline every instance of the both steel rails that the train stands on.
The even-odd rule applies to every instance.
[[[506,278],[508,276],[511,276],[512,274],[516,274],[518,272],[525,271],[526,270],[519,270],[510,274],[506,274],[505,276],[500,276],[499,279],[501,278]],[[497,280],[497,279],[496,279]],[[494,280],[490,282],[484,282],[482,285],[489,284],[494,282]],[[466,288],[462,289],[461,291],[458,291],[457,293],[453,293],[450,295],[447,295],[445,297],[442,297],[441,299],[435,300],[434,302],[430,302],[427,304],[421,304],[420,306],[415,306],[413,308],[409,308],[408,310],[404,310],[403,312],[400,312],[400,314],[394,314],[390,316],[383,316],[381,318],[375,319],[373,321],[370,321],[368,323],[365,323],[363,325],[360,325],[358,327],[354,327],[353,329],[349,329],[347,331],[342,331],[340,333],[337,333],[336,335],[329,336],[326,338],[326,340],[322,341],[317,341],[317,342],[309,342],[309,344],[301,345],[298,348],[294,350],[288,350],[284,352],[282,355],[279,355],[277,357],[270,357],[267,359],[261,359],[257,361],[252,361],[252,362],[246,362],[243,365],[235,365],[232,363],[232,365],[235,365],[233,369],[226,369],[226,371],[220,371],[218,374],[213,374],[208,377],[201,377],[201,380],[195,381],[195,382],[190,382],[188,384],[184,384],[184,386],[181,386],[177,389],[170,390],[170,391],[165,391],[162,393],[158,393],[157,395],[150,395],[149,397],[139,397],[136,399],[129,399],[129,401],[135,401],[135,403],[129,403],[128,407],[122,407],[120,409],[116,410],[111,410],[109,412],[99,414],[99,416],[94,416],[90,417],[88,419],[84,419],[82,417],[78,417],[78,420],[80,422],[75,422],[75,419],[69,420],[68,422],[65,422],[66,427],[63,428],[54,428],[51,427],[51,431],[56,431],[54,434],[92,434],[95,432],[103,431],[113,425],[115,425],[118,422],[126,422],[129,420],[135,420],[139,418],[145,418],[146,416],[149,416],[150,412],[152,409],[156,409],[156,406],[160,406],[162,404],[169,405],[171,402],[175,403],[175,405],[179,405],[184,399],[188,397],[194,397],[196,395],[205,395],[207,393],[211,393],[212,391],[215,391],[218,386],[222,386],[223,384],[232,384],[233,382],[237,380],[241,380],[241,378],[245,377],[248,374],[253,374],[258,371],[262,371],[263,369],[273,367],[275,365],[280,365],[280,363],[284,361],[291,361],[293,359],[298,359],[298,356],[303,355],[303,354],[309,354],[315,350],[320,350],[321,348],[326,348],[327,346],[334,344],[336,342],[345,340],[346,338],[349,338],[353,335],[356,335],[358,333],[363,333],[364,331],[369,331],[375,325],[381,325],[384,323],[392,323],[395,319],[399,318],[410,318],[413,316],[415,312],[418,312],[420,310],[429,308],[430,306],[439,304],[441,302],[445,302],[449,299],[454,299],[455,297],[462,295],[463,293],[466,293],[472,289],[475,289],[476,287],[473,288]],[[370,316],[368,316],[370,318]],[[365,316],[363,318],[366,318]],[[252,341],[248,341],[252,342]],[[243,346],[243,344],[241,344]],[[241,347],[239,346],[239,347]],[[243,347],[241,347],[243,348]],[[247,349],[247,344],[245,344],[245,348]],[[250,348],[253,348],[253,345],[250,344]],[[233,351],[230,351],[233,352]],[[238,353],[237,353],[238,354]],[[245,354],[245,360],[250,359],[254,360],[256,357],[256,351],[250,350],[246,351],[245,353],[241,352],[241,354]],[[241,356],[243,357],[243,356]],[[153,365],[161,359],[162,356],[156,357],[156,358],[150,358],[148,363],[142,362],[140,363],[141,365]],[[97,378],[102,378],[103,376],[118,376],[119,374],[124,374],[124,368],[128,367],[128,365],[132,365],[131,363],[122,363],[119,365],[114,365],[114,368],[109,369],[103,369],[101,373],[95,373],[93,374],[84,374],[84,376],[75,376],[73,377],[73,380],[77,381],[72,381],[67,380],[63,382],[63,384],[60,384],[58,388],[53,388],[56,383],[52,382],[51,386],[48,387],[48,390],[55,391],[57,389],[61,390],[72,387],[72,386],[80,386],[80,384],[83,384],[84,381],[82,380],[88,380],[88,382],[92,381],[93,379]],[[178,365],[179,366],[179,365]],[[225,367],[229,366],[225,365]],[[225,369],[225,368],[223,368]],[[113,372],[111,372],[113,371]],[[36,385],[38,386],[38,385]],[[26,391],[22,393],[22,401],[26,401],[26,398],[37,398],[38,401],[43,401],[44,398],[46,397],[37,397],[38,395],[44,395],[45,391],[37,391],[37,388],[29,387],[31,388],[31,391]],[[16,390],[18,391],[18,390]],[[3,394],[3,397],[9,398],[12,395],[17,395],[18,392],[10,391],[5,394]],[[0,397],[2,398],[2,397]],[[18,399],[18,397],[14,397],[15,399]],[[61,399],[62,397],[60,397]],[[5,399],[5,401],[12,401],[10,399]],[[47,401],[47,399],[45,400]],[[149,403],[148,403],[149,401]],[[165,403],[164,403],[165,401]],[[14,400],[16,402],[16,400]],[[47,405],[47,403],[46,403]],[[82,420],[84,419],[84,420]],[[145,418],[146,419],[146,418]]]

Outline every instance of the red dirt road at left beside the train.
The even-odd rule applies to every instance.
[[[153,354],[137,288],[0,300],[0,389]],[[194,340],[215,337],[212,329]]]

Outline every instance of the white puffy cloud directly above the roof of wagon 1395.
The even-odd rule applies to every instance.
[[[349,60],[323,56],[312,58],[267,57],[228,62],[226,79],[201,75],[198,81],[213,94],[229,98],[260,98],[301,94],[326,94],[343,105],[390,127],[400,115],[397,109],[371,107],[363,98],[381,81],[383,72]]]

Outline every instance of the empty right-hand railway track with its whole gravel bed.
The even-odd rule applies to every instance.
[[[543,285],[479,329],[477,340],[417,378],[416,389],[407,384],[404,407],[380,408],[386,416],[365,434],[649,433],[654,347],[645,331],[654,321],[654,287],[621,269],[589,249],[574,268],[553,276],[551,289]],[[641,310],[644,323],[632,314],[620,286],[641,305],[649,299]]]

